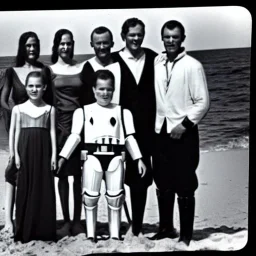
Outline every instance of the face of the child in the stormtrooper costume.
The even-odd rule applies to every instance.
[[[111,79],[97,79],[93,92],[97,103],[103,107],[109,105],[113,98],[113,84]]]

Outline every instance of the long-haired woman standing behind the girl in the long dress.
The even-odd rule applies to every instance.
[[[14,105],[24,103],[28,100],[25,89],[25,80],[31,71],[45,72],[47,77],[49,69],[38,61],[40,55],[40,41],[35,32],[28,31],[19,38],[18,52],[15,66],[6,69],[4,85],[1,92],[1,106],[7,133],[10,129],[11,111]],[[53,92],[48,86],[44,95],[44,100],[48,104],[53,103]],[[9,142],[10,143],[10,142]],[[15,187],[17,179],[17,169],[14,165],[14,155],[11,154],[9,163],[5,171],[6,190],[5,190],[5,227],[1,232],[13,233],[13,206],[15,197]]]

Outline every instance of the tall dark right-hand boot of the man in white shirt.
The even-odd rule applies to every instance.
[[[179,197],[179,212],[180,212],[180,241],[183,241],[187,246],[192,239],[194,214],[195,214],[195,197]]]

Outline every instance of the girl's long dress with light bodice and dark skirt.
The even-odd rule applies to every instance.
[[[50,111],[34,118],[20,112],[21,167],[16,197],[15,241],[56,239],[56,204],[51,171]]]

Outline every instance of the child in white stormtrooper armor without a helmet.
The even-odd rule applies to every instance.
[[[84,150],[82,195],[86,216],[87,238],[96,241],[97,204],[102,179],[106,184],[110,238],[120,239],[121,209],[125,200],[124,162],[126,150],[138,161],[143,177],[146,166],[133,134],[133,117],[128,109],[111,103],[115,78],[109,70],[95,72],[93,92],[96,102],[75,110],[72,130],[60,152],[59,171],[65,159],[81,141],[83,130]]]

